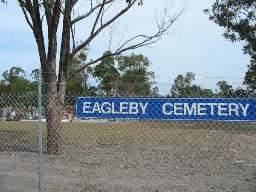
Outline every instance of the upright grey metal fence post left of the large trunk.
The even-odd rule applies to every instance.
[[[43,191],[43,150],[42,150],[42,70],[38,70],[38,171],[39,192]]]

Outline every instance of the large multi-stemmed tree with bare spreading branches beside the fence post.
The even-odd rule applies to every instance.
[[[6,0],[1,1],[6,2]],[[86,2],[81,0],[17,0],[17,2],[28,26],[34,33],[43,71],[47,99],[45,112],[48,154],[60,154],[62,151],[61,111],[67,81],[75,77],[76,73],[109,56],[120,55],[122,52],[139,47],[148,47],[159,41],[163,35],[171,32],[172,24],[185,13],[187,7],[184,3],[179,10],[173,11],[171,10],[172,0],[167,0],[162,11],[155,14],[156,30],[151,30],[151,32],[155,31],[154,33],[144,35],[140,33],[140,29],[137,29],[139,35],[129,38],[124,33],[114,50],[87,61],[86,64],[70,74],[70,60],[106,29],[115,29],[113,24],[119,22],[120,18],[134,6],[141,6],[143,9],[143,0],[90,0]],[[83,3],[89,3],[89,6],[83,6]],[[83,10],[79,10],[81,7]],[[87,10],[85,10],[86,7]],[[92,25],[87,24],[84,28],[89,32],[88,35],[84,37],[79,46],[75,46],[75,29],[77,29],[75,26],[81,24],[83,20],[93,17]],[[62,29],[59,29],[60,22],[62,22]],[[44,26],[47,26],[47,34],[44,33]],[[141,23],[141,29],[143,27],[143,23]],[[57,31],[62,32],[61,39],[58,39],[60,49],[57,48]],[[57,55],[60,55],[58,59]]]

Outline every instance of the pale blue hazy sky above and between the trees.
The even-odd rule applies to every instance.
[[[159,87],[161,95],[165,95],[170,90],[178,74],[185,75],[189,71],[197,76],[194,83],[204,88],[215,90],[217,88],[215,84],[220,80],[228,81],[233,88],[244,87],[242,81],[247,71],[247,64],[250,63],[250,57],[243,54],[241,43],[226,41],[222,37],[224,29],[210,21],[202,12],[203,9],[211,8],[214,1],[191,0],[186,13],[171,26],[170,34],[165,35],[151,48],[142,47],[123,53],[124,55],[129,55],[131,52],[141,53],[149,58],[152,62],[149,70],[155,73],[158,83],[155,86]],[[115,25],[121,34],[124,33],[124,29],[127,29],[124,36],[126,40],[139,34],[154,34],[156,31],[156,26],[152,22],[154,11],[161,9],[164,2],[165,0],[144,0],[143,6],[134,6],[120,18],[119,25],[117,26],[117,23]],[[172,13],[180,9],[184,3],[182,0],[173,0],[173,2]],[[188,1],[185,2],[188,3]],[[78,4],[80,5],[79,14],[81,15],[89,5]],[[113,10],[109,14],[113,15]],[[92,15],[88,20],[76,25],[76,41],[83,41],[88,37],[94,19],[95,15]],[[28,73],[26,78],[29,78],[29,73],[39,68],[38,49],[34,35],[16,1],[9,0],[7,7],[0,5],[0,23],[0,74],[16,66],[22,67]],[[58,42],[61,40],[61,29],[60,22]],[[44,25],[44,34],[47,34],[46,25]],[[108,30],[105,31],[105,37],[107,34]],[[103,37],[102,33],[90,43],[89,58],[96,59],[107,50]],[[117,38],[118,35],[112,43],[113,50],[116,47]],[[59,45],[60,43],[58,43],[58,49]],[[201,78],[202,76],[221,78]],[[95,83],[93,79],[90,82]]]

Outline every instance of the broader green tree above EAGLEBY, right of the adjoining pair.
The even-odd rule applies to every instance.
[[[120,71],[122,85],[119,90],[129,94],[151,94],[151,84],[154,84],[153,71],[148,71],[152,64],[148,57],[142,54],[119,55],[116,57],[118,70]],[[156,91],[156,89],[154,90]]]

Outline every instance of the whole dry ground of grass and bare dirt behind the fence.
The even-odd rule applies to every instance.
[[[252,122],[67,122],[44,191],[254,191]],[[0,191],[38,190],[37,122],[0,122]],[[12,183],[12,185],[10,185]]]

